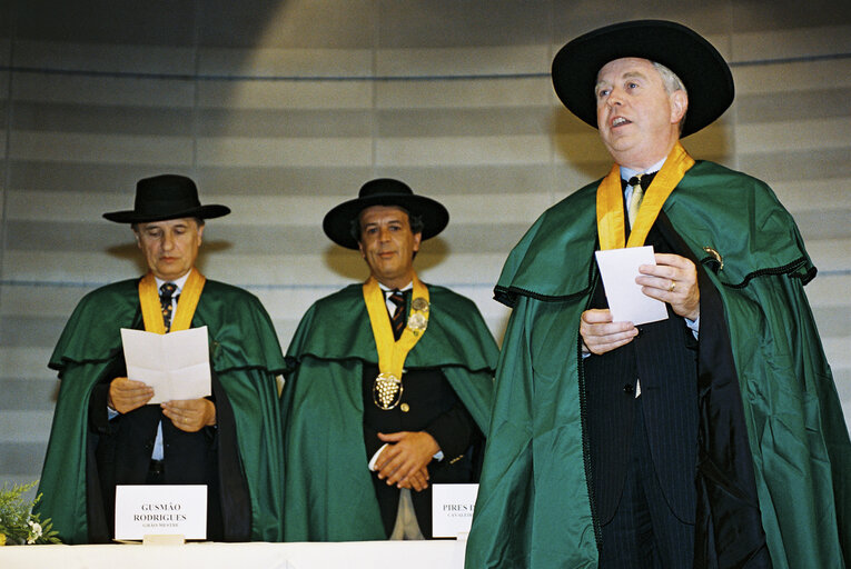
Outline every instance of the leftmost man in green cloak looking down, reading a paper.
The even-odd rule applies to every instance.
[[[113,536],[117,485],[207,486],[207,539],[283,539],[283,437],[275,330],[249,292],[196,268],[205,220],[195,182],[140,180],[129,223],[148,272],[99,288],[78,305],[50,367],[57,401],[39,492],[42,516],[70,543]],[[127,378],[122,328],[168,333],[207,327],[211,396],[147,405],[154,389]]]

